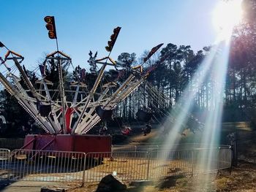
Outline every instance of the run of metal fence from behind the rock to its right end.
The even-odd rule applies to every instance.
[[[97,157],[98,161],[91,161]],[[86,182],[99,182],[107,174],[121,180],[156,180],[226,169],[231,166],[228,148],[155,150],[144,152],[87,153]]]

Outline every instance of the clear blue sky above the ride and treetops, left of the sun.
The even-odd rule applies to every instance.
[[[72,57],[75,66],[88,66],[89,50],[98,50],[99,57],[107,55],[105,46],[116,26],[121,31],[111,53],[115,60],[123,52],[140,57],[159,43],[191,45],[197,51],[216,39],[211,13],[218,1],[0,0],[0,41],[34,69],[43,53],[56,50],[43,20],[53,15],[59,49]],[[0,55],[4,54],[1,48]]]

